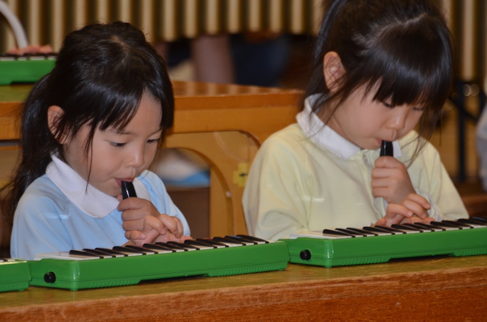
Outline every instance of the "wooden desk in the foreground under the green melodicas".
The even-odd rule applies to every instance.
[[[487,256],[0,293],[3,321],[485,321]],[[174,320],[173,320],[174,321]]]

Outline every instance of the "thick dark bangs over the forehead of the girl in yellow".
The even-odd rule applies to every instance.
[[[399,26],[378,37],[361,72],[371,75],[363,78],[367,92],[379,85],[376,101],[422,104],[435,110],[443,106],[453,79],[452,54],[446,46],[450,40],[431,28],[424,23],[409,29]]]

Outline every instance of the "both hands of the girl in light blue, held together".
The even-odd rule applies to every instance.
[[[122,199],[117,210],[122,212],[122,227],[125,237],[136,245],[153,242],[159,235],[168,235],[165,239],[179,240],[184,231],[181,220],[166,214],[159,214],[154,205],[149,201],[137,197]]]

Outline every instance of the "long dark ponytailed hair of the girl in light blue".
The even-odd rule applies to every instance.
[[[95,130],[122,130],[135,115],[142,94],[160,102],[161,128],[172,126],[174,96],[164,60],[129,23],[88,25],[64,39],[56,66],[42,78],[23,104],[21,160],[13,179],[2,188],[6,197],[1,210],[12,223],[15,208],[25,189],[45,174],[51,155],[63,159],[62,136],[72,138],[83,125],[90,126],[86,152]],[[63,109],[56,133],[49,130],[47,110]]]

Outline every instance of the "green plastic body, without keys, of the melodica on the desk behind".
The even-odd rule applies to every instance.
[[[55,64],[53,59],[0,61],[0,85],[35,83]]]

